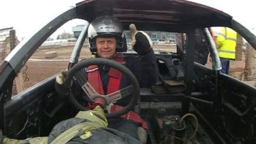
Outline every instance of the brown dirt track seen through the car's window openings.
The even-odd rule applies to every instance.
[[[47,46],[40,47],[22,68],[22,79],[24,80],[24,90],[43,81],[47,77],[57,74],[68,66],[69,58],[74,46]],[[168,50],[175,52],[175,45],[154,45],[154,49]],[[56,52],[55,58],[45,58],[45,52]],[[80,58],[90,58],[91,52],[87,46],[84,46],[80,52]]]

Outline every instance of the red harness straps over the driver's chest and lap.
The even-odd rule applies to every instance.
[[[124,58],[115,57],[113,60],[118,61],[119,63],[124,64]],[[104,95],[104,89],[102,86],[102,78],[100,76],[99,67],[97,65],[90,65],[86,72],[88,72],[88,82],[93,86],[96,92],[100,93],[101,95]],[[109,76],[109,82],[108,82],[108,91],[107,94],[116,92],[120,90],[121,82],[122,82],[122,72],[119,70],[116,70],[115,68],[111,67],[108,72]],[[100,106],[103,106],[106,104],[106,102],[103,99],[96,98],[95,101],[97,101],[97,104]],[[89,104],[90,108],[93,108],[93,104]],[[111,112],[116,112],[122,109],[122,106],[118,105],[112,105],[111,106]],[[137,114],[133,111],[129,111],[129,113],[122,116],[123,118],[127,120],[133,120],[134,122],[138,122],[144,129],[147,129],[147,123]]]

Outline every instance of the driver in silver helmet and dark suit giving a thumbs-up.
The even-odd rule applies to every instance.
[[[118,53],[127,50],[127,45],[122,23],[111,16],[98,17],[90,23],[88,28],[90,51],[92,54],[95,54],[96,58],[108,58],[123,63],[123,65],[129,68],[134,76],[136,76],[140,87],[150,88],[152,84],[156,83],[158,76],[156,56],[151,47],[152,41],[147,33],[137,31],[134,24],[130,25],[130,30],[132,47],[134,51],[138,52],[138,57],[127,56],[122,58],[118,56]],[[110,67],[106,65],[88,67],[84,70],[84,76],[88,79],[88,82],[92,84],[93,88],[103,95],[113,92],[109,91],[109,89],[114,90],[115,92],[116,90],[120,90],[121,88],[130,85],[129,79],[122,75],[121,77],[118,77],[117,82],[115,81],[115,83],[111,83],[113,79],[111,76],[113,76],[113,74],[111,74]],[[63,81],[65,81],[63,75],[56,77],[56,83],[62,84]],[[79,93],[78,95],[85,95],[81,86],[76,87],[77,90],[74,92]],[[116,104],[126,106],[130,99],[131,97],[125,97],[124,99],[118,100]],[[88,97],[87,100],[90,102]],[[132,121],[131,118],[130,120],[113,118],[109,119],[108,122],[109,127],[113,129],[128,133],[136,139],[140,137],[134,132],[137,131],[138,122]]]

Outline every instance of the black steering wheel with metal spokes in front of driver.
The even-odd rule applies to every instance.
[[[106,105],[109,105],[111,103],[115,103],[116,100],[122,99],[122,98],[127,97],[128,95],[132,94],[132,98],[131,98],[129,104],[127,104],[120,111],[116,111],[114,113],[107,113],[106,117],[107,118],[119,117],[119,116],[122,116],[125,113],[128,113],[129,111],[131,111],[131,109],[134,108],[134,106],[136,105],[139,95],[140,95],[139,83],[138,83],[136,77],[132,74],[132,72],[127,67],[125,67],[124,65],[122,65],[116,61],[108,60],[105,58],[93,58],[93,59],[83,60],[83,61],[80,61],[79,63],[77,63],[74,67],[72,67],[69,70],[68,75],[65,80],[65,83],[64,83],[64,86],[66,88],[69,88],[69,90],[70,90],[68,98],[70,99],[72,104],[74,104],[74,106],[76,106],[76,108],[79,110],[82,110],[82,111],[88,110],[88,109],[84,108],[84,106],[81,105],[77,101],[77,99],[75,99],[74,94],[72,93],[70,87],[72,84],[72,78],[75,75],[77,75],[77,73],[78,74],[79,74],[79,72],[81,73],[81,68],[86,68],[90,65],[108,65],[110,67],[116,68],[116,70],[119,70],[120,72],[125,74],[125,76],[127,76],[127,79],[129,79],[131,81],[130,86],[122,88],[116,92],[109,93],[108,95],[100,95],[98,92],[95,91],[95,89],[92,87],[92,85],[87,81],[87,79],[84,76],[79,76],[79,78],[84,77],[84,79],[80,80],[79,83],[81,84],[84,93],[86,93],[86,95],[90,98],[90,100],[92,100],[94,102],[96,98],[97,99],[101,98],[101,99],[105,100]]]

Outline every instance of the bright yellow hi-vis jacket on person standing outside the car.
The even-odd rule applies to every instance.
[[[236,31],[230,28],[221,28],[216,40],[220,58],[228,58],[231,60],[236,58],[236,38]]]

